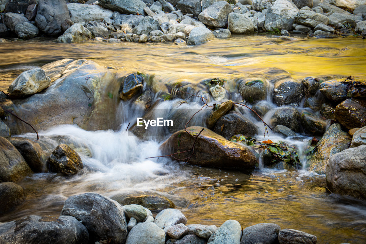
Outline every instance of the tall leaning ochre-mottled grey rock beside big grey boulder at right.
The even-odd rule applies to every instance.
[[[350,141],[350,135],[341,130],[340,124],[329,126],[315,146],[315,152],[310,159],[308,170],[318,174],[325,174],[326,163],[330,156],[347,149]]]

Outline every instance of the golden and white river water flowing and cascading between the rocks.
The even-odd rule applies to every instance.
[[[157,85],[180,81],[198,84],[220,77],[228,80],[229,96],[237,101],[242,98],[233,91],[233,81],[247,76],[265,75],[272,83],[286,77],[301,80],[307,76],[366,76],[366,41],[352,37],[283,42],[270,36],[241,36],[195,47],[31,40],[0,44],[0,89],[6,90],[22,71],[62,58],[85,58],[121,72],[154,75]],[[214,103],[212,97],[207,98],[210,104]],[[158,106],[171,111],[181,100],[161,101]],[[276,107],[270,99],[264,103]],[[115,200],[152,194],[171,199],[188,223],[219,226],[227,219],[236,219],[245,228],[274,222],[281,228],[315,234],[318,243],[365,243],[366,202],[330,194],[326,191],[325,175],[305,169],[220,170],[168,158],[146,159],[161,155],[162,140],[156,137],[141,141],[125,131],[128,121],[124,113],[131,106],[128,102],[120,104],[116,118],[122,124],[120,130],[90,132],[74,125],[60,125],[40,132],[44,150],[52,151],[57,144],[67,143],[81,155],[85,167],[72,177],[38,173],[19,182],[27,190],[27,200],[0,216],[0,221],[31,214],[57,215],[68,196],[83,192],[98,192]],[[180,108],[200,107],[197,99],[184,106]],[[238,111],[260,126],[257,138],[262,139],[261,122],[247,110]],[[264,117],[266,122],[274,111]],[[202,125],[203,121],[197,115],[193,123]],[[23,136],[34,138],[31,133]],[[169,133],[164,137],[167,136]],[[306,158],[301,151],[312,135],[282,138],[270,132],[265,140],[268,138],[296,145],[305,168]]]

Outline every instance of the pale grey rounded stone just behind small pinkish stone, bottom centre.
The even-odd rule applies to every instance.
[[[187,223],[187,219],[178,209],[167,208],[156,215],[154,223],[159,228],[167,232],[168,228],[173,225],[178,225],[180,223],[185,225]]]

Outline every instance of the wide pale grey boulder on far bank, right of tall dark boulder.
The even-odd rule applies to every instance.
[[[89,21],[102,22],[104,18],[112,18],[113,11],[99,5],[68,3],[71,21],[74,23],[87,23]]]

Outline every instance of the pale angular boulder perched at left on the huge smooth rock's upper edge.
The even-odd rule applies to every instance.
[[[45,71],[36,68],[24,71],[9,86],[9,97],[18,98],[33,95],[46,89],[51,84],[51,79]]]

